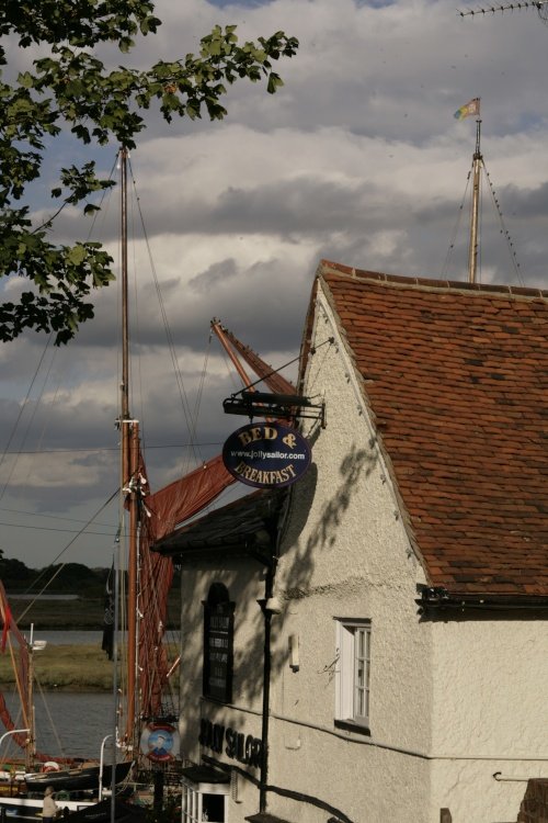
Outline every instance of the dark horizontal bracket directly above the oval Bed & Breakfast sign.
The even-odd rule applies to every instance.
[[[278,420],[309,418],[321,420],[326,428],[326,404],[312,403],[308,397],[298,394],[271,394],[270,392],[239,392],[222,401],[227,415],[253,417],[272,417]]]

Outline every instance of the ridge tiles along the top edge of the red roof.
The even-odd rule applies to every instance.
[[[434,278],[410,278],[402,274],[386,274],[380,271],[366,271],[356,269],[352,266],[343,266],[332,260],[322,259],[318,267],[318,273],[321,275],[335,274],[341,278],[351,280],[383,282],[395,286],[415,286],[430,291],[459,291],[473,292],[476,294],[488,293],[490,295],[500,294],[501,296],[511,297],[537,297],[548,300],[548,290],[533,289],[523,285],[503,285],[493,283],[468,283],[460,280],[436,280]]]

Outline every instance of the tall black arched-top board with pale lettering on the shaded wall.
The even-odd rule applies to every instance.
[[[204,697],[232,702],[235,604],[222,583],[214,583],[204,602]]]

